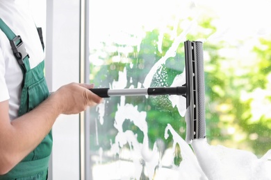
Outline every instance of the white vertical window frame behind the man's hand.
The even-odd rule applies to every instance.
[[[84,82],[85,3],[80,0],[47,0],[46,63],[49,91],[63,84]],[[83,14],[81,14],[83,13]],[[82,62],[82,63],[81,63]],[[84,114],[61,115],[53,127],[54,145],[49,179],[85,179]],[[83,147],[83,148],[82,148]]]

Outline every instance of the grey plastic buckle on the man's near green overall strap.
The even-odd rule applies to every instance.
[[[17,35],[13,40],[10,40],[10,45],[13,48],[13,54],[20,65],[24,64],[24,57],[28,56],[22,38]]]

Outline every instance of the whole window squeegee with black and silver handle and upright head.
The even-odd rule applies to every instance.
[[[110,96],[160,96],[179,95],[186,97],[186,142],[205,138],[204,108],[204,60],[202,42],[184,42],[186,84],[180,87],[149,87],[138,89],[90,89],[101,98]]]

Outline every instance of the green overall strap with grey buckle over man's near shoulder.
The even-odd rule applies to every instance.
[[[23,73],[30,70],[30,65],[28,61],[29,55],[26,52],[26,48],[24,46],[22,38],[19,35],[15,35],[15,33],[13,33],[13,31],[6,25],[6,23],[1,18],[0,29],[3,31],[3,33],[6,34],[6,36],[10,40],[10,46],[13,49],[13,54],[15,55],[15,58],[19,63],[19,66],[21,67]]]

